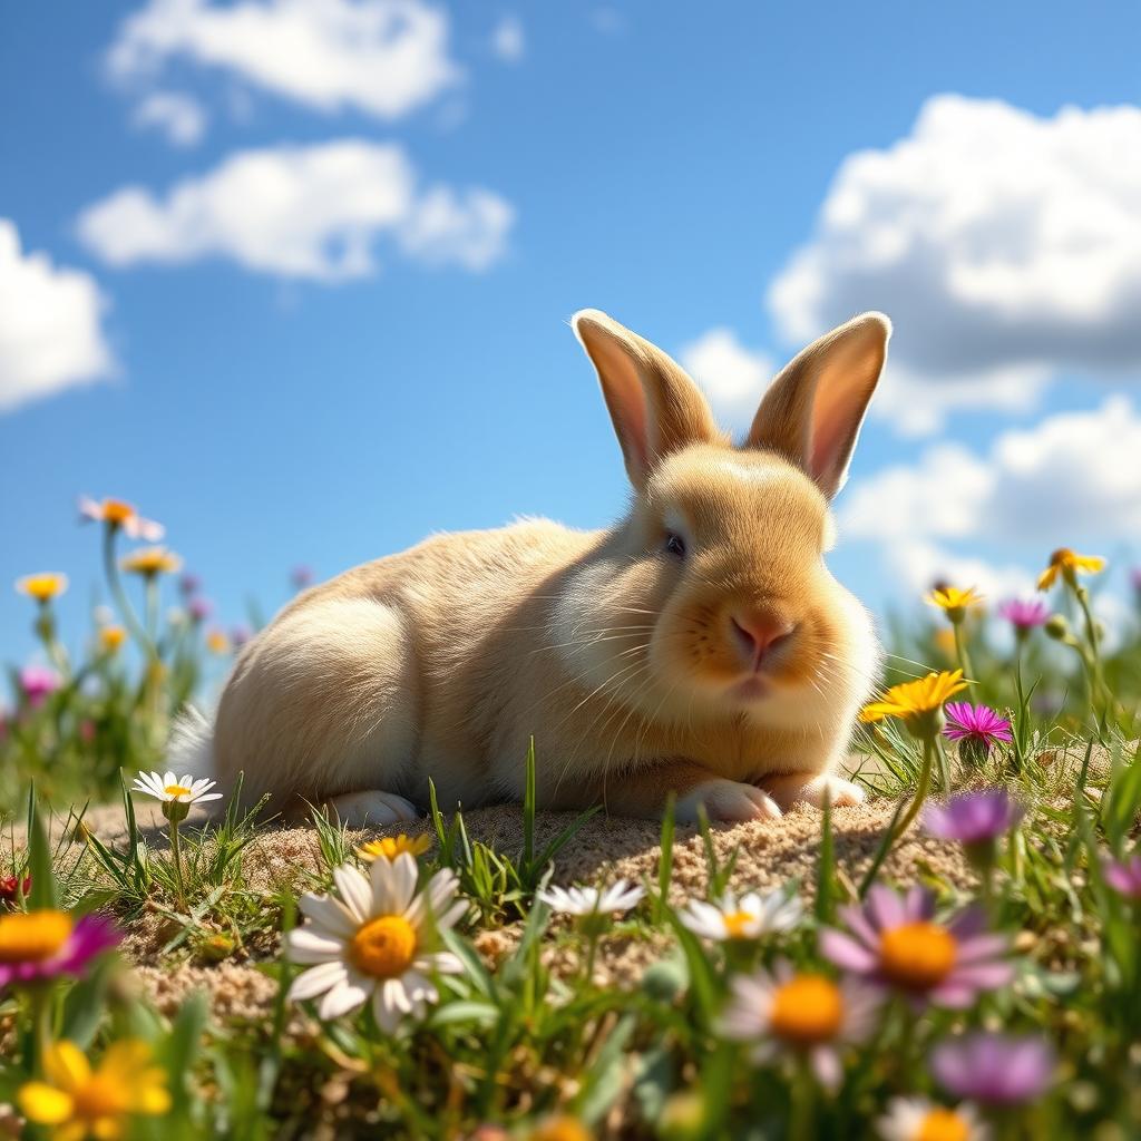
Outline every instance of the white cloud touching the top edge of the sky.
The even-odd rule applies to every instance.
[[[188,60],[317,111],[391,120],[459,81],[447,40],[446,13],[422,0],[149,0],[107,60],[124,82]]]

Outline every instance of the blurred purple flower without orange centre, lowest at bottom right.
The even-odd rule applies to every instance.
[[[931,1053],[931,1073],[948,1093],[986,1106],[1018,1106],[1041,1097],[1054,1065],[1053,1050],[1038,1037],[969,1034]]]

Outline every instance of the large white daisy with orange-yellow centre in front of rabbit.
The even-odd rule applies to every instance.
[[[318,1013],[338,1018],[372,998],[372,1012],[386,1031],[400,1019],[423,1018],[427,1003],[439,1002],[429,976],[458,974],[460,960],[436,950],[432,934],[452,926],[467,911],[455,899],[453,872],[437,872],[416,893],[415,857],[374,860],[365,875],[345,864],[333,872],[339,898],[307,893],[301,913],[308,923],[289,933],[294,963],[313,963],[290,987],[294,1002],[323,995]]]

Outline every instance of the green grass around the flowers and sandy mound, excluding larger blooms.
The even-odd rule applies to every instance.
[[[1063,588],[1058,599],[1061,612],[1081,614],[1076,590]],[[179,877],[164,833],[140,825],[127,782],[155,762],[154,743],[187,696],[187,677],[203,669],[205,632],[176,623],[173,632],[148,633],[157,661],[170,665],[163,672],[154,658],[132,663],[98,649],[72,667],[43,617],[38,625],[60,683],[38,703],[19,695],[0,745],[11,776],[0,791],[8,817],[0,877],[32,879],[26,898],[17,890],[0,904],[0,970],[10,955],[2,924],[15,912],[110,913],[133,941],[74,977],[0,989],[0,1103],[18,1106],[21,1091],[48,1076],[44,1060],[63,1038],[95,1062],[113,1043],[133,1039],[147,1044],[170,1097],[169,1111],[122,1116],[127,1135],[139,1139],[864,1138],[880,1135],[896,1099],[957,1106],[932,1051],[970,1031],[1002,1031],[1047,1043],[1055,1062],[1033,1095],[979,1104],[994,1136],[1136,1135],[1141,904],[1107,877],[1138,845],[1136,623],[1115,632],[1112,652],[1095,628],[1074,621],[1069,629],[1085,630],[1076,645],[1036,632],[1015,656],[993,623],[968,615],[957,652],[970,652],[970,698],[1005,711],[1013,739],[985,755],[940,752],[936,794],[1003,787],[1026,815],[998,839],[993,865],[973,884],[947,872],[942,857],[955,845],[944,844],[917,858],[898,887],[929,890],[940,924],[980,908],[1005,942],[1013,978],[962,1009],[889,990],[866,1036],[840,1049],[837,1084],[825,1085],[788,1039],[758,1061],[753,1043],[727,1034],[725,1013],[739,980],[779,961],[801,974],[836,977],[820,932],[843,928],[849,908],[898,866],[890,823],[871,857],[853,863],[841,858],[843,811],[826,807],[811,874],[783,888],[806,900],[800,922],[756,939],[711,941],[690,930],[681,908],[679,844],[687,859],[699,848],[704,896],[723,901],[751,887],[727,840],[752,833],[727,835],[704,819],[696,833],[680,830],[671,806],[637,906],[575,919],[555,913],[542,895],[592,814],[553,830],[541,818],[534,774],[543,758],[532,748],[515,845],[480,839],[462,812],[443,814],[432,791],[436,843],[419,860],[419,882],[447,871],[466,903],[462,919],[439,934],[459,965],[436,980],[439,1001],[395,1035],[380,1029],[367,1004],[322,1019],[315,1002],[286,998],[304,966],[282,955],[282,938],[304,921],[299,893],[329,892],[334,869],[346,865],[367,869],[357,837],[314,814],[315,858],[270,874],[259,841],[272,804],[246,812],[235,798],[217,824],[183,826]],[[893,645],[889,685],[956,664],[956,644],[937,622],[899,626]],[[904,721],[888,720],[861,730],[857,744],[857,779],[901,809],[920,779],[923,743]],[[113,800],[126,819],[115,842],[84,825],[88,801]],[[208,995],[187,993],[180,1009],[162,1013],[135,977],[140,955],[160,972],[216,972],[218,987],[227,972],[256,970],[275,997],[254,1017],[219,1015]],[[623,961],[641,965],[617,969]]]

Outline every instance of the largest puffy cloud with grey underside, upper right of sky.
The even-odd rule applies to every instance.
[[[909,136],[844,161],[768,304],[798,343],[889,313],[879,411],[905,431],[1025,408],[1059,370],[1141,367],[1139,199],[1141,108],[939,96]]]

